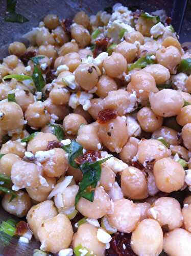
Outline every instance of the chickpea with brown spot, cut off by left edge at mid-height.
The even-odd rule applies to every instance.
[[[24,118],[22,109],[15,102],[2,102],[0,104],[0,127],[5,131],[22,129]]]

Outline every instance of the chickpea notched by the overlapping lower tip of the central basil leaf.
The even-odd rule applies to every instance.
[[[107,214],[110,210],[111,203],[108,194],[103,187],[97,187],[94,193],[93,202],[85,198],[80,198],[77,209],[87,218],[99,219]]]

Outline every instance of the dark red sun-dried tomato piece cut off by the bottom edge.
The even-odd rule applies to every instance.
[[[131,249],[131,234],[117,232],[106,250],[106,256],[137,256]]]

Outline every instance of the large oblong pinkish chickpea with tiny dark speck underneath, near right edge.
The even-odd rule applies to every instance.
[[[158,93],[150,94],[149,101],[154,113],[163,117],[177,115],[184,104],[181,94],[172,89],[163,89]]]

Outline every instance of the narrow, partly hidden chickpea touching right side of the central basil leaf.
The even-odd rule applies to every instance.
[[[100,186],[108,191],[111,189],[115,182],[115,174],[110,167],[107,165],[102,164],[102,174],[100,178]]]

